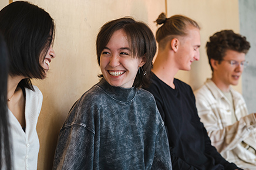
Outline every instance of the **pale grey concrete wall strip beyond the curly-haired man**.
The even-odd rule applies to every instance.
[[[239,13],[240,13],[240,30],[241,34],[246,36],[251,44],[251,48],[245,59],[249,62],[249,66],[244,69],[242,76],[242,94],[248,107],[249,113],[256,111],[256,1],[239,0]]]

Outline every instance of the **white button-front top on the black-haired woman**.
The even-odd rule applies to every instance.
[[[14,169],[37,169],[39,139],[36,132],[36,124],[42,107],[43,96],[38,87],[33,86],[35,91],[25,88],[25,121],[26,130],[22,130],[21,124],[14,114],[8,109],[11,144],[12,144],[12,165]]]

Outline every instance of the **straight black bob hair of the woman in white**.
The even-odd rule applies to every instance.
[[[0,11],[0,30],[9,52],[9,75],[24,76],[19,86],[33,90],[32,78],[44,79],[44,57],[55,37],[49,13],[25,1],[15,1]]]

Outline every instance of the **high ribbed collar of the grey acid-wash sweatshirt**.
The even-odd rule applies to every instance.
[[[96,84],[99,86],[107,96],[113,98],[113,100],[122,101],[124,103],[129,103],[136,96],[136,88],[124,88],[124,87],[114,87],[111,86],[107,81],[102,78],[99,83]]]

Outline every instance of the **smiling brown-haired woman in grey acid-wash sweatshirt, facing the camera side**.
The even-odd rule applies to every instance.
[[[149,83],[156,40],[133,18],[107,22],[96,40],[102,79],[71,108],[53,169],[171,169],[166,130]]]

